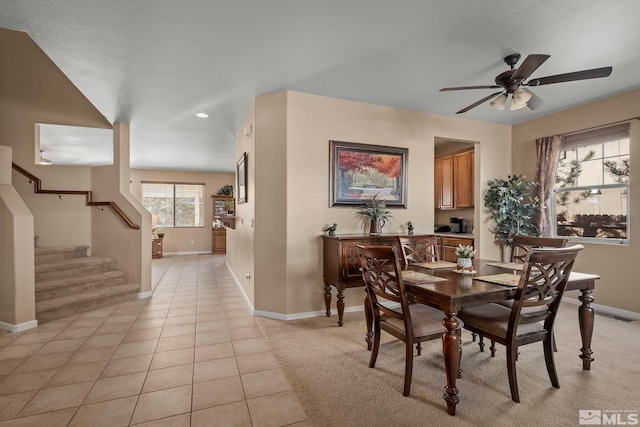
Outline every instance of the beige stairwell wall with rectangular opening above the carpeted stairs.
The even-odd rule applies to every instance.
[[[111,128],[111,124],[22,32],[0,29],[0,144],[13,161],[42,179],[45,189],[90,190],[88,167],[39,166],[37,123]],[[91,211],[83,196],[34,194],[13,173],[13,185],[33,213],[40,245],[90,244]]]

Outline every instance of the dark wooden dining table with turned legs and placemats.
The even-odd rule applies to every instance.
[[[501,302],[513,299],[517,287],[519,270],[523,264],[474,259],[473,270],[458,271],[455,263],[436,261],[410,264],[403,270],[403,281],[408,296],[415,302],[439,308],[443,312],[442,349],[446,372],[444,400],[447,413],[455,415],[460,402],[456,379],[460,369],[460,343],[456,317],[466,307]],[[578,324],[582,338],[579,357],[582,368],[589,370],[593,362],[591,338],[593,336],[594,309],[591,304],[596,280],[595,274],[571,272],[566,290],[579,290]],[[365,298],[366,299],[366,298]],[[365,300],[367,323],[367,348],[373,343],[373,318],[368,301]]]

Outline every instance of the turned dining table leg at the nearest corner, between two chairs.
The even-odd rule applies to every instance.
[[[447,414],[456,414],[456,405],[460,402],[456,378],[460,368],[460,337],[458,335],[458,319],[455,313],[445,313],[447,317],[442,320],[446,331],[442,333],[442,353],[444,355],[444,368],[447,375],[447,386],[444,388],[444,400],[447,401]]]

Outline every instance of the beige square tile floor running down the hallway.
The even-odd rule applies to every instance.
[[[309,425],[223,255],[153,277],[151,298],[0,331],[0,427]]]

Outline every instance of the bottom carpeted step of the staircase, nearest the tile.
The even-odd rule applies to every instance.
[[[140,285],[126,284],[39,301],[36,302],[36,319],[39,323],[44,323],[129,301],[136,298],[139,289]]]

